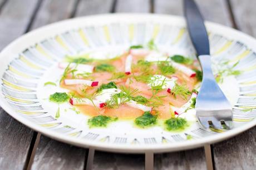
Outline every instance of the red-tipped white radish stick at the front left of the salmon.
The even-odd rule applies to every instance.
[[[96,106],[99,108],[105,107],[106,103],[97,101],[97,100],[90,100],[88,98],[70,98],[70,104],[72,105],[90,105]]]

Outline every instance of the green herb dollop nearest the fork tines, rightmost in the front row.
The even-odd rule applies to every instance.
[[[183,130],[186,126],[188,126],[188,123],[186,122],[186,119],[184,118],[170,118],[164,122],[165,127],[168,131],[177,131],[177,130]]]

